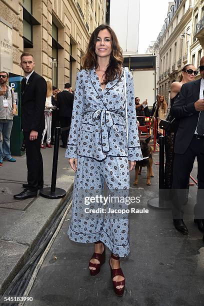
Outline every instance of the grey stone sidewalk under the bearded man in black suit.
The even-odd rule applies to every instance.
[[[50,186],[52,148],[41,149],[44,168],[44,187]],[[59,147],[56,187],[69,192],[73,171]],[[15,157],[16,162],[4,161],[0,167],[0,294],[23,266],[26,258],[40,238],[63,199],[46,199],[41,196],[25,200],[13,199],[26,182],[25,154]]]

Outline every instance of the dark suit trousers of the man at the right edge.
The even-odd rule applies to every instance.
[[[193,163],[197,157],[197,196],[194,215],[197,219],[204,219],[204,138],[193,137],[184,154],[174,155],[172,181],[172,217],[183,217],[184,205],[187,202],[189,176]]]

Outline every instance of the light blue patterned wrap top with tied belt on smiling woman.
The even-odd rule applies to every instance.
[[[81,70],[76,77],[72,121],[65,157],[107,156],[140,160],[132,75],[126,72],[128,144],[126,140],[124,76],[102,90],[95,69]]]

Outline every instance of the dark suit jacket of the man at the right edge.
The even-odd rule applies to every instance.
[[[195,133],[199,111],[195,110],[194,103],[199,99],[200,80],[183,84],[170,108],[170,113],[180,119],[174,145],[174,152],[178,154],[186,151]]]

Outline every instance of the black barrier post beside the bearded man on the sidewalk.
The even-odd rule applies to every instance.
[[[58,150],[59,150],[59,135],[60,135],[60,127],[55,127],[51,187],[42,188],[39,191],[39,194],[46,198],[61,198],[65,196],[66,194],[66,191],[64,189],[56,188],[56,172],[57,172],[57,161],[58,161]]]

